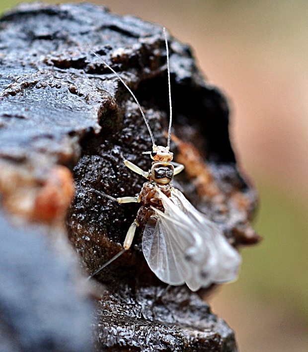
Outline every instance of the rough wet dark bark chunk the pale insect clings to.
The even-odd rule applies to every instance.
[[[170,149],[185,165],[173,185],[217,223],[232,245],[254,244],[259,237],[249,220],[256,193],[238,172],[228,103],[197,69],[189,46],[169,34],[168,43]],[[28,221],[49,226],[63,221],[72,185],[64,170],[72,170],[76,192],[68,234],[91,274],[121,249],[139,206],[116,204],[90,189],[114,197],[138,194],[144,179],[123,159],[148,170],[151,159],[142,152],[152,150],[137,104],[91,50],[122,75],[146,113],[156,144],[166,145],[162,27],[88,3],[32,3],[1,18],[0,44],[2,206]],[[55,179],[62,186],[55,186]],[[131,249],[96,276],[102,284],[96,350],[235,352],[232,330],[196,293],[173,287],[159,298],[165,284],[143,256],[144,225]]]

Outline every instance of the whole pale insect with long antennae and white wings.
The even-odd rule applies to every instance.
[[[150,269],[162,282],[169,285],[186,283],[192,291],[196,291],[200,287],[207,287],[212,283],[234,280],[241,259],[217,225],[206,215],[197,211],[184,195],[171,184],[173,176],[180,173],[184,169],[184,165],[172,162],[173,153],[169,150],[172,105],[168,43],[165,29],[163,32],[166,45],[170,106],[166,147],[155,144],[153,133],[142,107],[125,81],[91,50],[121,80],[138,104],[153,142],[152,151],[144,153],[150,154],[153,162],[151,170],[144,171],[129,160],[124,160],[124,164],[129,169],[147,179],[137,197],[114,198],[91,189],[91,191],[112,201],[118,203],[136,202],[141,203],[142,206],[135,221],[129,227],[123,250],[97,269],[89,278],[129,250],[136,228],[143,222],[146,226],[142,248]]]

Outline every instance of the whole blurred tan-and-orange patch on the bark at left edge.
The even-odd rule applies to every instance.
[[[37,179],[31,170],[0,163],[1,204],[11,214],[26,221],[62,221],[74,197],[74,180],[71,171],[61,165],[54,166]]]

